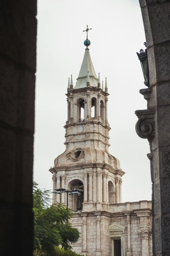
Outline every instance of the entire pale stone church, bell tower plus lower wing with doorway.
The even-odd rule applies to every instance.
[[[86,29],[88,31],[88,28]],[[151,201],[121,201],[120,161],[109,152],[108,88],[96,76],[89,46],[73,85],[68,81],[64,153],[50,168],[54,189],[81,189],[68,196],[72,226],[81,233],[71,245],[88,256],[152,256]],[[110,96],[111,97],[111,96]],[[94,110],[94,111],[93,111]],[[66,193],[53,193],[53,203],[66,205]]]

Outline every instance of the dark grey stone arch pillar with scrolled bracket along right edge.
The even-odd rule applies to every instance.
[[[151,153],[153,255],[170,255],[170,1],[139,0],[144,22],[150,87],[140,90],[148,109],[136,111],[137,134]]]

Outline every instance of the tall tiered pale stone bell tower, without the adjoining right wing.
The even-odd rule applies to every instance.
[[[103,82],[101,86],[100,74],[97,78],[92,64],[88,48],[90,44],[87,38],[84,41],[86,49],[76,84],[73,84],[72,76],[68,80],[68,112],[64,126],[66,149],[55,159],[54,167],[49,171],[53,174],[53,189],[62,187],[84,190],[81,196],[68,197],[68,207],[75,212],[72,223],[78,225],[76,227],[82,234],[81,243],[72,247],[76,252],[86,254],[86,225],[89,221],[88,227],[91,229],[93,218],[97,256],[101,255],[100,221],[106,212],[110,213],[111,204],[121,203],[121,177],[124,172],[120,169],[119,160],[109,153],[111,128],[107,118],[107,79],[105,87]],[[53,193],[53,203],[55,202],[66,204],[65,193]],[[88,220],[89,217],[91,220]],[[88,255],[93,254],[88,252]]]

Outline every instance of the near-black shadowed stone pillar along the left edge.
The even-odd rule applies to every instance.
[[[0,1],[0,251],[32,255],[36,0]]]

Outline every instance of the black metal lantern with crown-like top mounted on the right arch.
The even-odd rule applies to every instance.
[[[145,47],[147,47],[146,42],[144,43],[144,45]],[[142,67],[142,72],[145,79],[144,84],[149,87],[149,67],[148,67],[147,49],[145,49],[145,51],[143,49],[140,49],[139,53],[138,52],[136,53]]]

